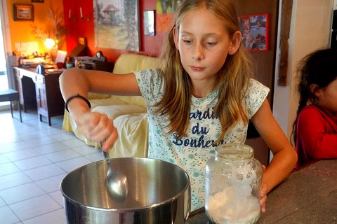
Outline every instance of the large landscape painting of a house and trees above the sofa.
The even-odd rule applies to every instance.
[[[138,0],[93,0],[95,48],[140,50]]]

